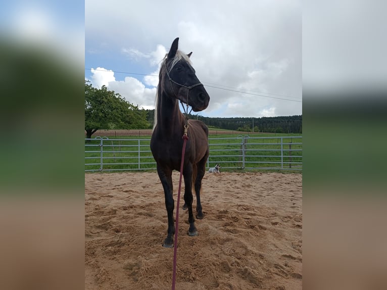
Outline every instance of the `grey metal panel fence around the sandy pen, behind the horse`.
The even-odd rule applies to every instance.
[[[85,139],[85,171],[156,170],[150,138]],[[209,138],[207,169],[302,170],[302,136]]]

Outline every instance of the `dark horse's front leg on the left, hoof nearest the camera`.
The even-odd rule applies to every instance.
[[[173,235],[175,234],[173,210],[175,207],[175,201],[173,200],[172,170],[163,170],[158,166],[157,173],[159,174],[161,184],[164,188],[165,207],[167,209],[168,216],[168,235],[164,240],[163,247],[173,248]]]

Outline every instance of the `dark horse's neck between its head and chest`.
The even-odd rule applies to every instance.
[[[184,116],[179,109],[179,102],[161,92],[157,104],[157,127],[163,134],[176,134],[184,127]]]

